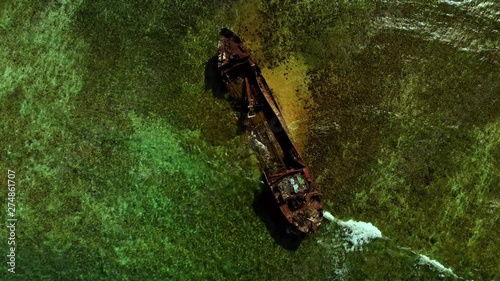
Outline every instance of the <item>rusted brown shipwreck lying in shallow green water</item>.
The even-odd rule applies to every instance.
[[[323,220],[321,193],[292,142],[278,103],[242,40],[229,29],[220,32],[218,69],[230,88],[240,84],[239,96],[248,106],[251,141],[267,185],[288,222],[301,233],[316,232]],[[231,87],[233,86],[233,87]],[[240,94],[237,91],[233,94]]]

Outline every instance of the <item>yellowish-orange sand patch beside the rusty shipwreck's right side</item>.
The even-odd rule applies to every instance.
[[[298,149],[303,152],[308,141],[309,115],[306,106],[314,108],[314,101],[307,89],[307,65],[302,57],[288,58],[287,62],[273,69],[262,69],[267,84],[285,119]]]

